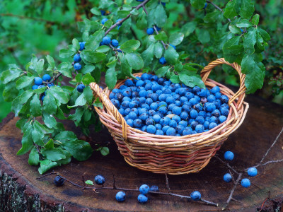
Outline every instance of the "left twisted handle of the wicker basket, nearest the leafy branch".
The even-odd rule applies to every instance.
[[[127,122],[125,121],[124,117],[122,117],[122,114],[120,114],[117,108],[112,104],[112,102],[109,100],[108,96],[103,92],[103,90],[99,88],[98,84],[91,83],[89,86],[91,86],[91,90],[93,90],[93,92],[98,95],[104,107],[106,107],[106,109],[113,114],[117,122],[122,124],[122,135],[123,138],[125,138],[125,141],[127,141]]]

